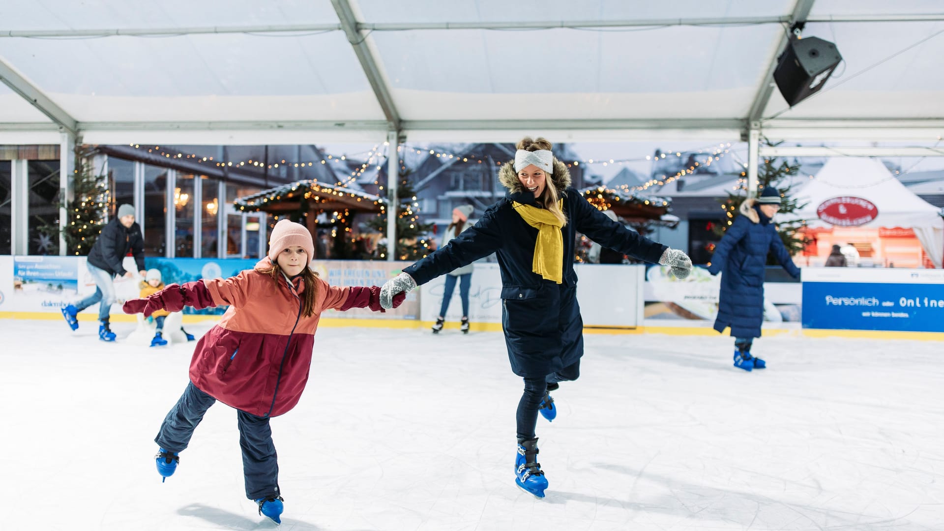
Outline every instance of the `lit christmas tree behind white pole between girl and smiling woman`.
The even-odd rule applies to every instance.
[[[416,203],[416,190],[410,180],[410,170],[401,171],[400,182],[396,188],[396,260],[419,260],[430,254],[430,241],[427,235],[432,231],[432,223],[419,221],[419,210]],[[381,192],[381,197],[388,197],[387,190]],[[370,220],[368,226],[383,234],[387,233],[388,208]],[[385,240],[381,240],[385,241]],[[374,258],[386,259],[387,248],[379,243],[374,251]]]

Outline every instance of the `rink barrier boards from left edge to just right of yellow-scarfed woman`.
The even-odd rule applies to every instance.
[[[95,291],[95,284],[81,256],[0,256],[0,316],[15,314],[58,314],[59,308],[76,302]],[[255,260],[216,260],[192,258],[147,258],[147,267],[159,267],[164,283],[183,283],[200,278],[216,278],[236,274],[255,264]],[[315,261],[313,267],[332,285],[382,285],[408,263],[369,261]],[[131,257],[125,267],[135,272],[132,279],[116,279],[119,303],[137,298],[142,278]],[[642,266],[577,265],[578,300],[585,326],[637,327],[643,315]],[[472,273],[469,317],[477,323],[501,322],[501,279],[494,263],[478,263]],[[369,310],[326,312],[324,317],[388,318],[435,320],[442,303],[443,284],[440,277],[414,290],[407,301],[395,311],[380,314]],[[458,283],[457,283],[458,284]],[[93,315],[97,305],[83,314]],[[120,312],[112,308],[112,314]],[[222,312],[222,309],[216,309]],[[185,312],[186,313],[186,312]],[[201,312],[202,313],[202,312]],[[25,317],[25,316],[23,316]],[[447,318],[458,321],[462,305],[457,285]]]

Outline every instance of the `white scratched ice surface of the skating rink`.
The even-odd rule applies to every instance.
[[[214,405],[160,483],[153,442],[190,345],[102,343],[94,323],[0,320],[0,528],[273,529]],[[192,325],[202,334],[209,324]],[[544,500],[514,486],[523,387],[500,333],[323,328],[272,420],[283,530],[941,530],[944,359],[933,341],[585,336],[538,420]]]

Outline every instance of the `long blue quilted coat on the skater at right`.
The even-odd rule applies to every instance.
[[[776,226],[753,208],[755,202],[741,203],[741,215],[718,242],[708,267],[712,275],[722,273],[715,330],[724,332],[730,326],[734,337],[761,336],[767,251],[773,251],[793,278],[800,278],[800,268],[793,264]]]

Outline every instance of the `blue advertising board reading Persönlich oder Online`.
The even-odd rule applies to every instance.
[[[803,328],[944,332],[944,272],[803,269]]]

